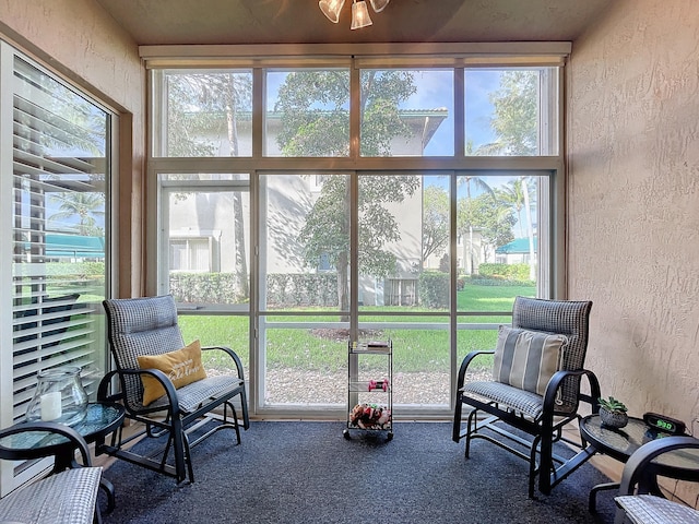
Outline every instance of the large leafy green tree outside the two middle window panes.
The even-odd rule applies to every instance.
[[[362,154],[389,155],[391,141],[407,136],[399,107],[415,92],[405,71],[362,74]],[[346,70],[293,72],[280,87],[274,107],[280,112],[277,143],[288,156],[347,156],[350,154],[350,72]],[[388,276],[395,255],[388,242],[400,240],[395,217],[386,204],[401,203],[420,187],[415,176],[364,176],[359,186],[359,253],[363,273]],[[321,257],[337,270],[339,305],[348,306],[350,186],[345,176],[325,177],[320,195],[299,231],[304,260],[315,267]]]

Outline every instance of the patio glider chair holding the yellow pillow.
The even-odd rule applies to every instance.
[[[236,397],[242,410],[242,427],[250,427],[240,358],[228,347],[201,348],[201,352],[222,354],[232,364],[232,369],[235,367],[232,374],[206,377],[198,341],[185,346],[177,323],[177,307],[170,295],[111,299],[103,303],[116,369],[100,381],[97,397],[123,403],[127,419],[144,425],[143,431],[129,438],[123,438],[119,431],[111,445],[106,446],[106,452],[173,476],[178,484],[188,476],[193,483],[191,448],[224,428],[235,430],[237,443],[240,443],[240,422],[233,402]],[[221,408],[223,417],[214,413]],[[213,428],[202,429],[209,421]],[[190,442],[190,434],[196,431],[203,434]],[[143,434],[167,436],[162,454],[137,454],[133,449],[126,448]],[[174,465],[167,462],[170,450]]]

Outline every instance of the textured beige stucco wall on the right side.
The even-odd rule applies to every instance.
[[[588,365],[636,416],[699,417],[699,2],[617,0],[573,43],[570,298]],[[699,431],[699,424],[694,424]]]

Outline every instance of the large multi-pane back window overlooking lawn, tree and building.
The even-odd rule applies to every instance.
[[[390,337],[396,417],[448,416],[460,359],[494,346],[514,297],[557,296],[561,57],[411,50],[153,66],[154,130],[180,147],[151,159],[158,291],[192,337],[249,333],[253,413],[343,418],[347,342]],[[241,215],[214,180],[229,172],[248,174]],[[230,277],[249,293],[186,296],[225,282],[226,259],[249,262]]]

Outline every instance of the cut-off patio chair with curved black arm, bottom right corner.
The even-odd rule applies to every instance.
[[[678,478],[699,480],[697,454],[692,462],[683,463],[683,452],[699,450],[699,440],[694,437],[664,437],[636,450],[624,465],[619,495],[614,500],[618,507],[615,524],[694,523],[699,522],[699,511],[682,502],[662,497],[652,462],[664,453],[675,453],[670,461],[687,469]],[[685,455],[686,457],[686,455]]]

